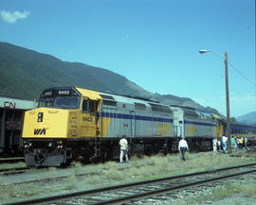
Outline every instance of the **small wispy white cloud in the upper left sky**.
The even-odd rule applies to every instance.
[[[29,14],[30,11],[28,10],[25,10],[24,12],[20,12],[18,10],[15,10],[13,12],[8,10],[0,11],[2,19],[10,24],[14,24],[19,19],[26,19]]]

